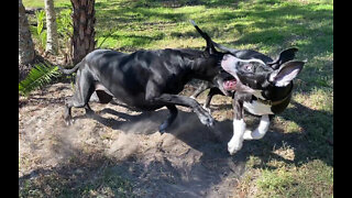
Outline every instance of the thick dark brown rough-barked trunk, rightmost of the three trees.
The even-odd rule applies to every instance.
[[[74,12],[73,62],[76,65],[95,50],[95,0],[70,0]]]

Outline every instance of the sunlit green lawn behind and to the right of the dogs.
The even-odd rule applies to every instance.
[[[40,0],[23,3],[43,7]],[[55,6],[69,8],[70,2],[55,1]],[[333,147],[327,143],[333,140],[332,0],[97,0],[96,16],[97,45],[122,52],[202,48],[205,41],[190,19],[216,42],[233,48],[276,57],[287,47],[298,47],[297,59],[307,64],[295,80],[292,105],[275,118],[275,130],[294,140],[279,148],[265,138],[254,143],[263,153],[249,154],[240,186],[248,193],[252,189],[254,197],[333,196]],[[288,160],[279,161],[277,154]]]

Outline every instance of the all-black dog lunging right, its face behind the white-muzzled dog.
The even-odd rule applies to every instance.
[[[220,66],[223,53],[218,53],[210,37],[204,36],[207,40],[205,51],[166,48],[124,54],[96,50],[73,69],[61,68],[64,74],[78,70],[76,91],[65,102],[66,123],[72,123],[72,107],[91,111],[88,101],[96,91],[102,103],[114,97],[140,110],[152,111],[166,106],[170,114],[160,125],[161,132],[176,119],[176,105],[193,108],[202,124],[212,127],[215,120],[211,114],[195,99],[177,95],[190,79],[211,81],[223,72]]]

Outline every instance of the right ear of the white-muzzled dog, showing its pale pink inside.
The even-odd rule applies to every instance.
[[[305,62],[286,62],[279,69],[270,74],[268,81],[273,82],[276,87],[287,86],[299,72],[304,68]]]

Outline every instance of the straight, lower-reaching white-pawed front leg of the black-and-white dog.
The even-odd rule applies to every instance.
[[[245,132],[245,122],[243,120],[243,100],[237,95],[233,98],[233,136],[228,143],[228,151],[230,155],[233,155],[242,148],[243,134]]]

